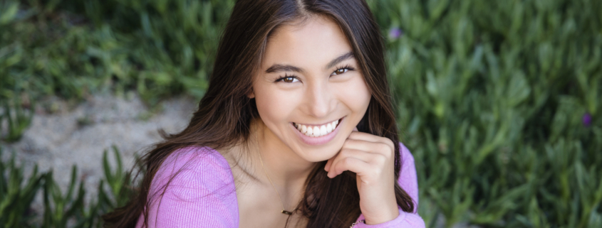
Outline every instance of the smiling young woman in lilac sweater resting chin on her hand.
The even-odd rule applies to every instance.
[[[363,0],[240,0],[187,128],[110,227],[424,227]]]

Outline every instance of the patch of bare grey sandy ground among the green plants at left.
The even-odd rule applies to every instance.
[[[151,112],[135,96],[131,99],[95,96],[74,107],[58,99],[43,103],[56,111],[36,109],[21,140],[2,144],[2,159],[6,161],[14,151],[16,161],[25,167],[26,176],[35,164],[42,172],[53,170],[63,192],[71,178],[72,165],[77,165],[78,178],[87,191],[85,202],[96,197],[98,183],[104,176],[103,151],[110,152],[109,161],[115,167],[111,146],[116,146],[124,170],[129,170],[134,165],[135,153],[141,154],[161,140],[158,129],[168,133],[183,129],[197,107],[193,99],[174,98],[160,103]],[[36,205],[41,205],[39,195]]]

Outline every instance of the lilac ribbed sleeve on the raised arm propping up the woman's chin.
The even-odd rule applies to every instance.
[[[414,165],[414,156],[410,153],[410,150],[406,148],[403,143],[399,143],[400,145],[400,153],[402,158],[402,166],[400,170],[398,183],[405,192],[408,192],[408,195],[412,197],[414,200],[414,212],[404,212],[399,209],[399,216],[389,222],[384,222],[381,224],[356,224],[356,228],[422,228],[425,227],[425,222],[422,220],[420,215],[417,214],[418,210],[418,179],[416,176],[416,167]],[[357,221],[363,220],[364,216],[360,215]]]

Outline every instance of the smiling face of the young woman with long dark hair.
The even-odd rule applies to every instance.
[[[336,155],[371,96],[346,36],[322,16],[278,28],[253,91],[265,139],[311,162]]]

